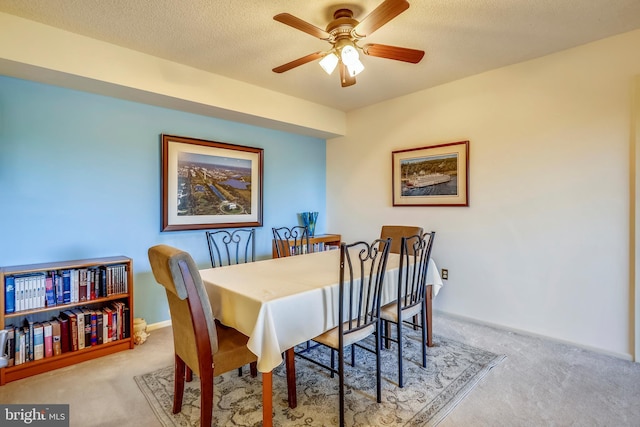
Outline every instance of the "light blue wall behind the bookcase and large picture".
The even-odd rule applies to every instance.
[[[0,265],[126,255],[135,316],[168,319],[147,249],[210,264],[204,231],[160,231],[162,133],[264,149],[259,258],[298,212],[320,212],[326,231],[324,140],[0,76]]]

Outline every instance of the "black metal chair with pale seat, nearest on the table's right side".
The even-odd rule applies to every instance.
[[[351,364],[355,365],[353,346],[375,336],[375,348],[358,346],[376,354],[376,398],[382,402],[380,374],[380,299],[391,240],[376,240],[340,245],[340,291],[338,326],[319,335],[313,341],[331,349],[331,366],[307,354],[297,356],[338,374],[340,384],[340,426],[344,426],[344,349],[352,347]],[[338,368],[334,355],[338,353]]]

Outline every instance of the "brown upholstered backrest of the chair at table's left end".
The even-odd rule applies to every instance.
[[[218,336],[198,268],[191,255],[171,246],[153,246],[148,253],[153,276],[167,293],[175,352],[199,375],[200,363],[213,363]]]

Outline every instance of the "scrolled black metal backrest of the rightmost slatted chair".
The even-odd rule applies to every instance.
[[[426,297],[427,270],[436,232],[400,238],[398,309],[422,304]]]

